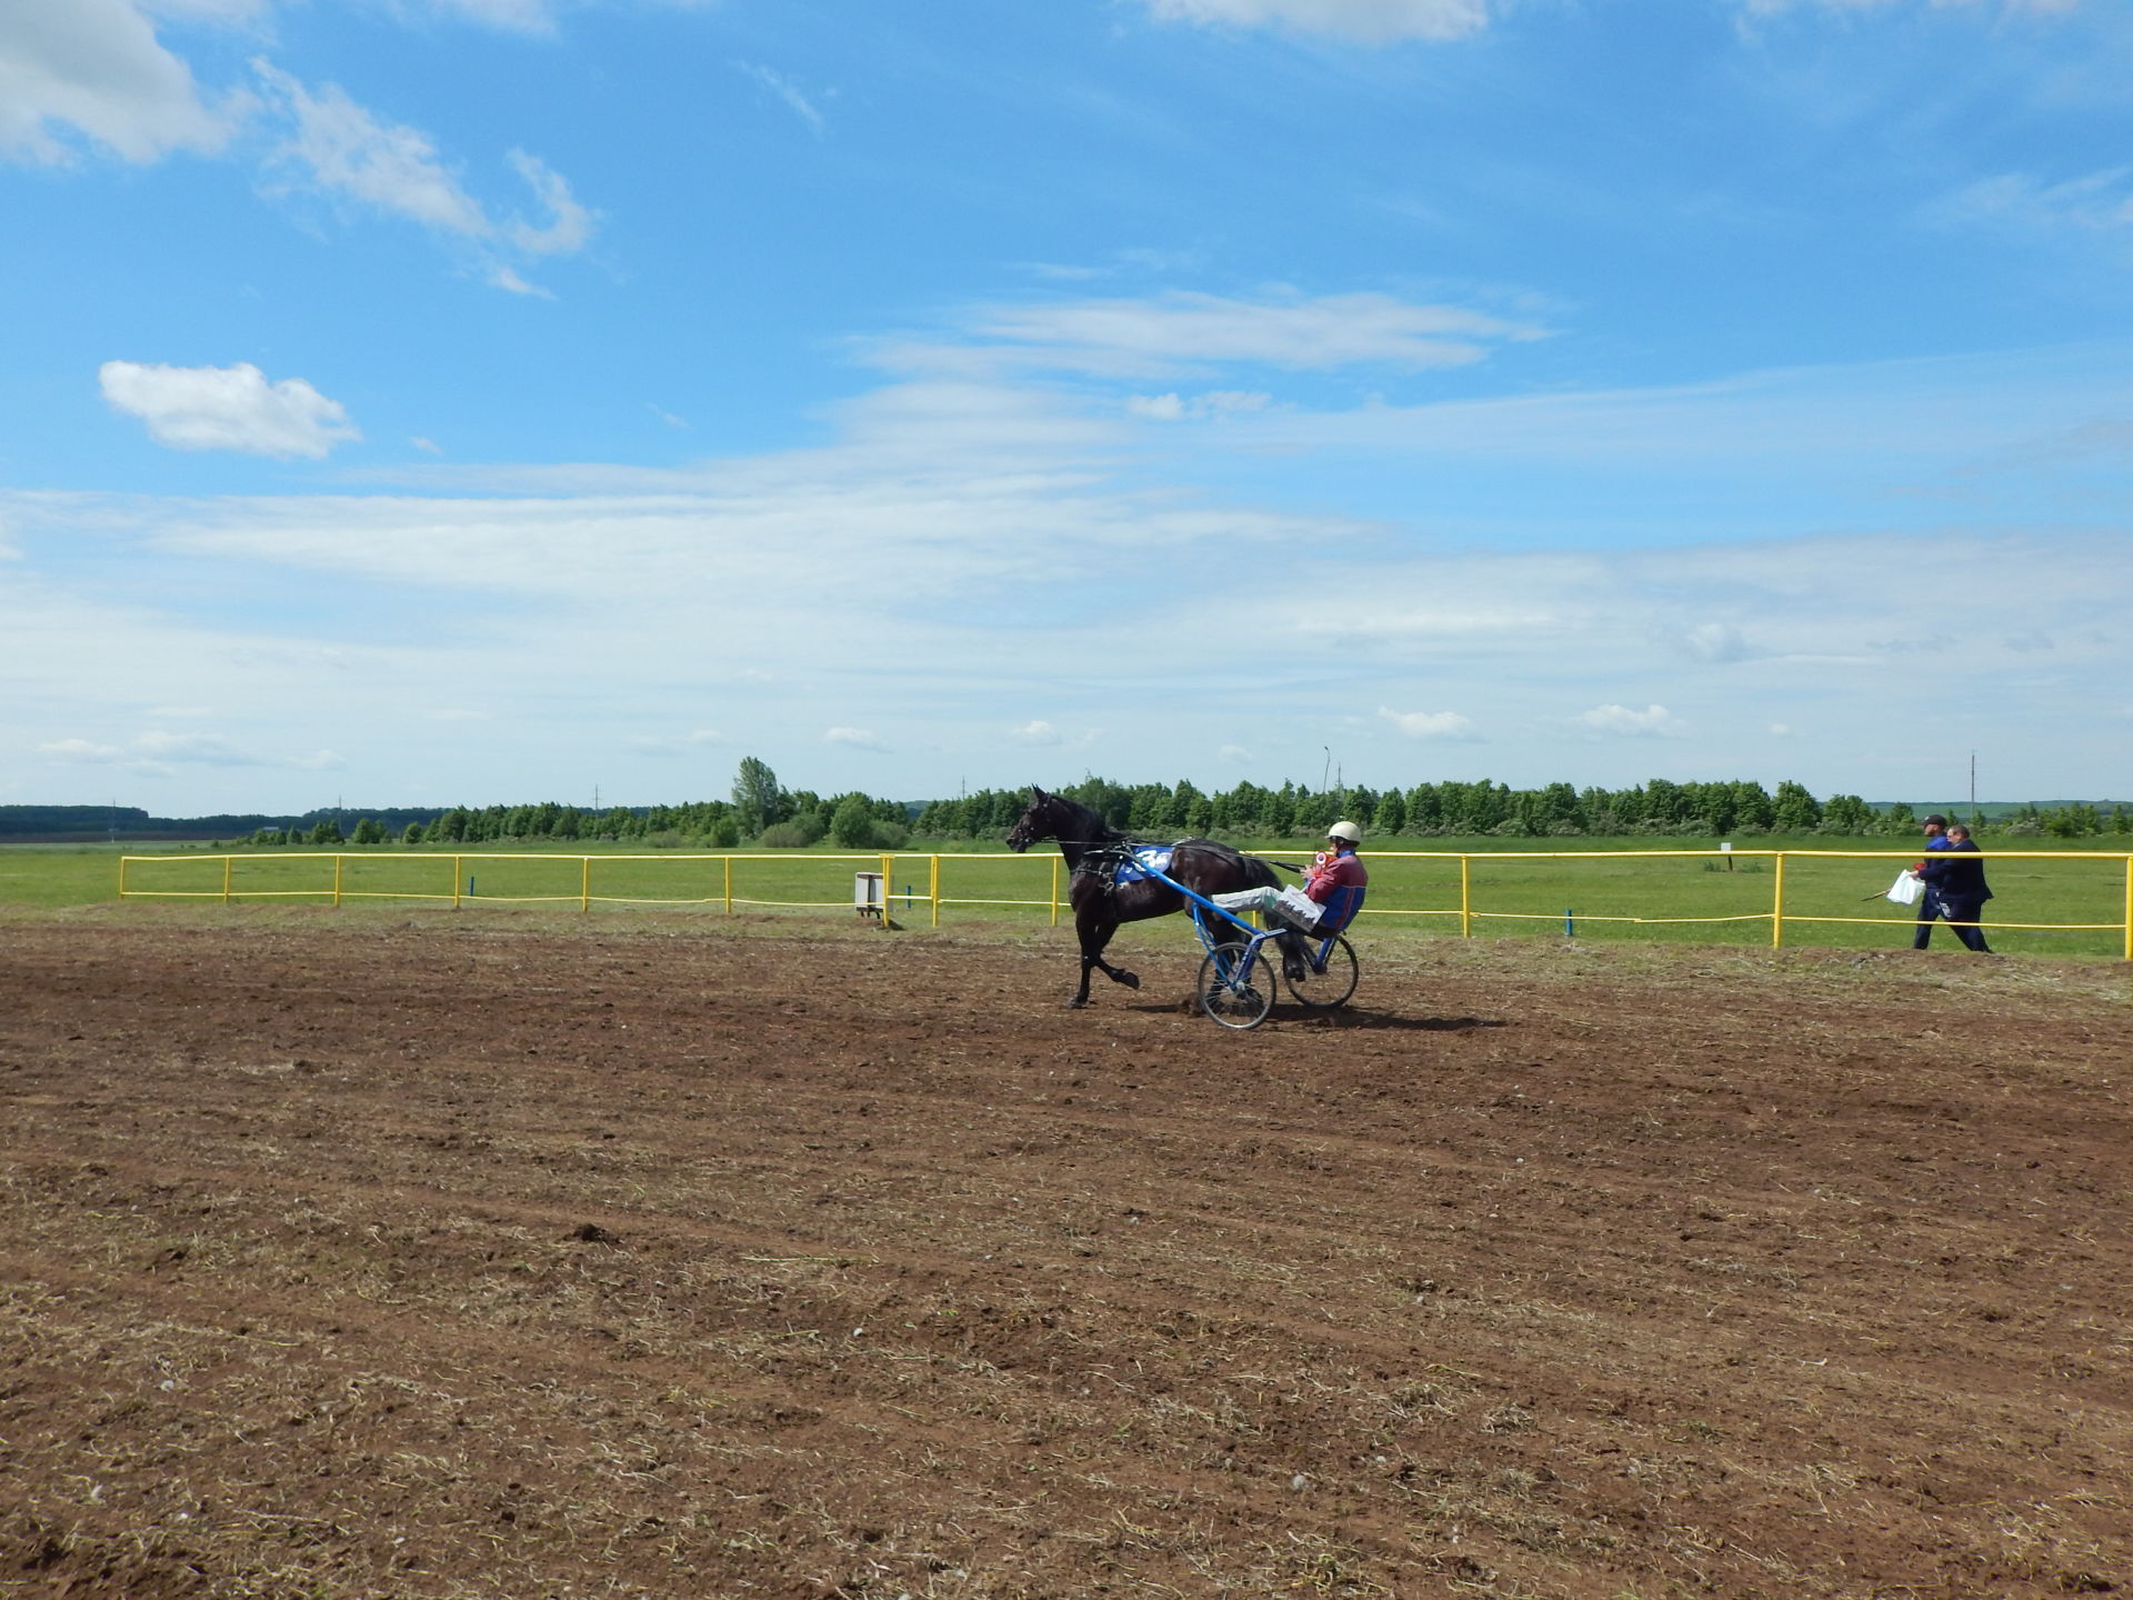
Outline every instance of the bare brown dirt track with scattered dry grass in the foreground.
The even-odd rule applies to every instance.
[[[0,1596],[2133,1591],[2133,988],[0,919]]]

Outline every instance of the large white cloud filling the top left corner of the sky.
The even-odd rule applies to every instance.
[[[64,162],[66,132],[128,162],[215,151],[243,111],[243,96],[209,105],[132,0],[0,4],[0,156]]]

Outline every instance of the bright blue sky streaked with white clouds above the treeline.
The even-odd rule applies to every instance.
[[[0,802],[2133,796],[2133,11],[0,0]]]

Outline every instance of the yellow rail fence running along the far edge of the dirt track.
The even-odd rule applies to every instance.
[[[1602,924],[1619,928],[1721,928],[1728,924],[1768,924],[1770,947],[1783,947],[1787,930],[1802,924],[1858,924],[1901,928],[1909,924],[1909,913],[1883,909],[1879,915],[1839,913],[1830,909],[1834,881],[1826,870],[1830,862],[1879,862],[1881,870],[1915,858],[1915,851],[1826,851],[1826,849],[1741,849],[1741,851],[1369,851],[1374,868],[1369,905],[1365,917],[1374,919],[1438,919],[1457,924],[1461,937],[1472,939],[1482,924],[1555,924],[1566,932],[1576,924]],[[2084,885],[2080,896],[2067,905],[2075,911],[2090,911],[2082,919],[2054,922],[2003,922],[1990,919],[1994,932],[2039,930],[2039,932],[2116,932],[2120,954],[2133,962],[2133,853],[2122,851],[1982,851],[1986,862],[2037,862],[2054,868],[2073,864],[2116,864],[2122,873],[2122,894],[2101,890],[2097,883]],[[1723,873],[1766,873],[1768,894],[1755,896],[1745,877],[1728,877],[1728,902],[1734,909],[1702,911],[1681,915],[1681,907],[1662,905],[1645,911],[1578,911],[1574,907],[1529,909],[1540,885],[1523,881],[1519,885],[1495,883],[1485,896],[1476,890],[1476,866],[1504,868],[1510,864],[1613,864],[1623,862],[1700,862],[1702,870]],[[1794,887],[1787,900],[1787,864],[1794,866]],[[881,896],[889,913],[924,917],[939,926],[943,907],[994,907],[1035,909],[1060,922],[1066,905],[1066,875],[1058,853],[1045,855],[817,855],[779,851],[764,855],[736,853],[687,853],[659,851],[657,855],[561,855],[552,851],[480,851],[465,855],[442,855],[431,851],[241,851],[226,855],[124,855],[119,858],[122,900],[311,900],[346,905],[348,900],[431,900],[452,905],[576,905],[591,911],[595,905],[638,905],[638,907],[706,907],[717,905],[732,913],[757,907],[802,907],[828,909],[851,907],[851,898],[821,898],[825,885],[821,868],[857,868],[881,875]],[[1815,883],[1805,892],[1798,887],[1800,875],[1819,870]],[[203,883],[203,875],[213,873]],[[1457,879],[1450,875],[1457,873]],[[448,875],[448,877],[446,877]],[[488,875],[491,885],[478,892],[478,875]],[[1043,883],[1043,898],[1032,898],[1030,877]],[[896,887],[902,877],[902,890]],[[949,894],[943,877],[953,887],[971,892]],[[2114,875],[2116,877],[2116,875]],[[499,881],[501,879],[501,881]],[[1561,887],[1566,881],[1551,879],[1546,887]],[[177,887],[173,887],[177,883]],[[1429,896],[1450,896],[1457,885],[1455,905],[1427,905]],[[1642,885],[1615,885],[1621,898],[1649,898]],[[1856,885],[1854,885],[1856,887]],[[653,892],[661,890],[661,892]],[[979,892],[983,890],[983,892]],[[1493,896],[1493,898],[1491,898]],[[1482,900],[1491,902],[1485,907]],[[1679,881],[1657,892],[1659,900],[1698,900]],[[1858,898],[1839,894],[1837,900]],[[1869,894],[1864,900],[1879,900]],[[2039,896],[2031,896],[2039,898]],[[2041,896],[2056,898],[2056,896]],[[1753,902],[1760,900],[1760,902]],[[2105,907],[2105,902],[2110,905]],[[1527,909],[1514,909],[1523,902]],[[2095,915],[2107,909],[2107,917]]]

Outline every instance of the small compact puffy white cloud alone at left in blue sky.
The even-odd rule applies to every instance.
[[[267,382],[250,361],[235,367],[143,367],[107,361],[105,399],[147,422],[149,437],[173,450],[243,450],[260,457],[322,459],[335,444],[360,439],[339,401],[303,378]]]

